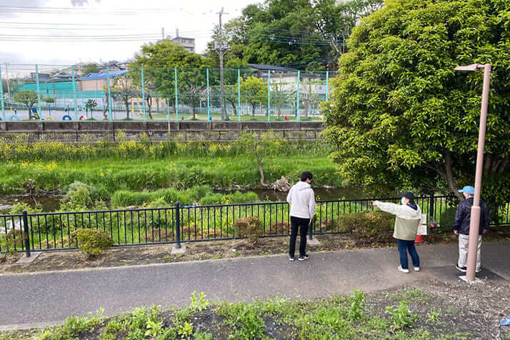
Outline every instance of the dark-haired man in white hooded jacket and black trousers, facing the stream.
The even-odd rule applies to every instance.
[[[314,178],[311,172],[304,171],[301,181],[291,187],[287,195],[287,201],[291,205],[291,241],[289,244],[289,261],[294,261],[296,250],[296,237],[299,227],[299,261],[309,259],[306,254],[306,234],[315,215],[315,194],[311,189],[311,181]]]

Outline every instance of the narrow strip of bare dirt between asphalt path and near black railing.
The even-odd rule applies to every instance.
[[[319,235],[321,244],[310,246],[311,251],[342,251],[350,249],[384,248],[395,246],[394,240],[362,241],[354,240],[349,234]],[[499,229],[484,236],[486,241],[510,240],[510,228]],[[425,236],[425,244],[444,244],[456,242],[456,236],[435,233]],[[288,237],[271,237],[248,241],[236,239],[227,241],[190,242],[186,244],[186,254],[171,254],[171,244],[155,246],[114,247],[96,259],[86,259],[81,251],[44,251],[31,264],[16,264],[21,254],[0,256],[0,273],[21,273],[36,271],[54,271],[112,266],[132,266],[142,264],[164,264],[182,261],[209,259],[231,259],[246,256],[264,256],[286,254],[289,247]]]

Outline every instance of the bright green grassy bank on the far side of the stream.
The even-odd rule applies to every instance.
[[[281,176],[298,181],[304,170],[314,174],[316,186],[341,186],[336,167],[326,156],[278,156],[264,162],[268,183]],[[0,166],[0,194],[25,193],[27,189],[63,190],[75,181],[113,193],[121,189],[186,189],[200,184],[255,187],[259,179],[259,169],[249,156],[9,161]]]

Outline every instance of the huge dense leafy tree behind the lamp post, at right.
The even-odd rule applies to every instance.
[[[356,26],[321,106],[346,185],[460,196],[474,178],[482,76],[454,67],[491,62],[485,196],[510,199],[507,14],[499,0],[394,0]]]

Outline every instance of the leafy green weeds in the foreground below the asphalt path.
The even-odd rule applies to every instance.
[[[391,301],[399,294],[387,294],[385,297]],[[111,319],[105,319],[102,311],[81,317],[71,316],[61,326],[44,329],[36,339],[270,339],[275,334],[272,331],[268,333],[269,329],[280,326],[285,329],[287,337],[302,340],[469,339],[471,336],[459,332],[438,334],[436,327],[440,324],[432,329],[414,328],[418,314],[411,313],[405,300],[396,306],[387,306],[386,317],[371,315],[366,311],[365,299],[362,291],[354,291],[350,296],[334,296],[315,302],[288,301],[277,296],[251,304],[211,305],[203,292],[194,291],[189,307],[184,309],[163,311],[153,305],[150,309],[137,308]],[[221,331],[224,333],[215,334],[214,326],[200,319],[203,311],[208,311],[208,316],[216,314],[223,318]],[[424,312],[424,316],[428,316],[427,320],[432,323],[439,321],[441,312],[431,309]]]

